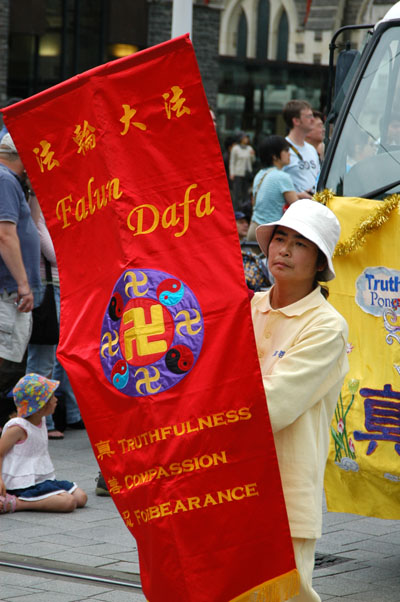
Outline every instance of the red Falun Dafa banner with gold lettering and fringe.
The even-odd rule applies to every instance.
[[[188,37],[5,121],[56,249],[58,356],[147,599],[295,595],[232,203]]]

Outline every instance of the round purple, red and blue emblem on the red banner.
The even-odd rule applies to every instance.
[[[126,270],[104,314],[101,365],[121,393],[162,393],[193,369],[203,338],[200,305],[184,282],[157,270]]]

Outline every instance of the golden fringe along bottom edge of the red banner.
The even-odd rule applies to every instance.
[[[231,602],[283,602],[289,600],[300,591],[300,577],[297,569],[262,583]]]

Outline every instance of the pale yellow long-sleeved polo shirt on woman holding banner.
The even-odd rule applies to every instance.
[[[315,539],[330,424],[348,371],[347,324],[319,286],[279,309],[269,291],[256,293],[251,307],[291,535]]]

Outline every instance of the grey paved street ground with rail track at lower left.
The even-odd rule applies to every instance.
[[[88,505],[72,514],[0,516],[0,600],[145,602],[132,587],[135,541],[112,500],[94,494],[98,469],[86,432],[67,431],[63,441],[50,442],[50,453],[57,475],[88,492]],[[400,602],[400,521],[325,513],[317,562],[314,583],[323,601]],[[57,575],[20,568],[27,564]]]

